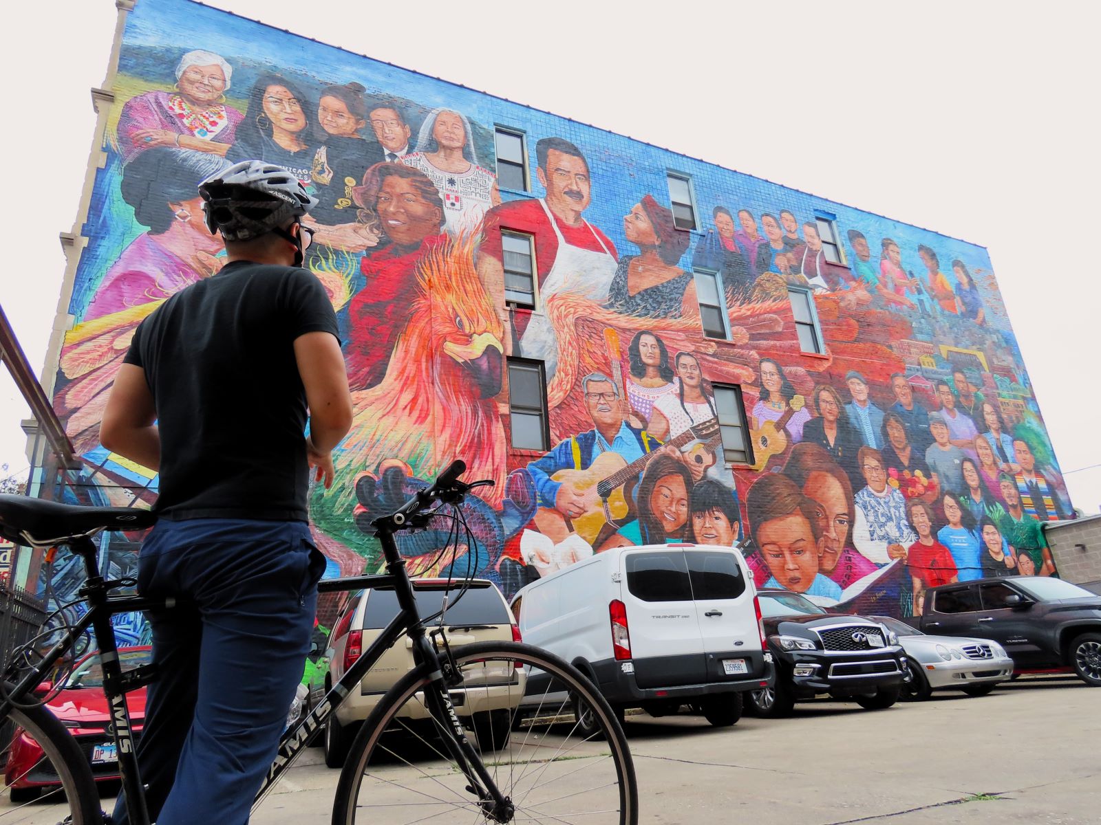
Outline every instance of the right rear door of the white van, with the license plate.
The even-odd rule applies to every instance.
[[[709,681],[750,678],[760,660],[754,590],[734,550],[685,548]],[[632,637],[633,640],[633,637]]]

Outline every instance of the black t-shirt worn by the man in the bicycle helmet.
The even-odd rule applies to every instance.
[[[161,431],[164,518],[305,521],[306,392],[294,340],[337,319],[305,270],[236,261],[139,324],[126,363],[145,371]]]

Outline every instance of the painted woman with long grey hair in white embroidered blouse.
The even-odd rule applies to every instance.
[[[497,175],[478,165],[470,121],[454,109],[436,109],[425,119],[416,152],[402,162],[435,185],[453,237],[480,229],[482,216],[501,202]]]

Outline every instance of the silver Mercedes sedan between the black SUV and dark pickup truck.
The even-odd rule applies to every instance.
[[[993,639],[929,636],[890,616],[871,618],[894,630],[906,651],[909,681],[902,689],[904,700],[925,700],[939,690],[985,696],[1013,675],[1013,660]]]

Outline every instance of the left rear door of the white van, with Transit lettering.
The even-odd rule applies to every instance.
[[[635,683],[673,688],[702,682],[704,640],[684,550],[626,550],[620,563]]]

